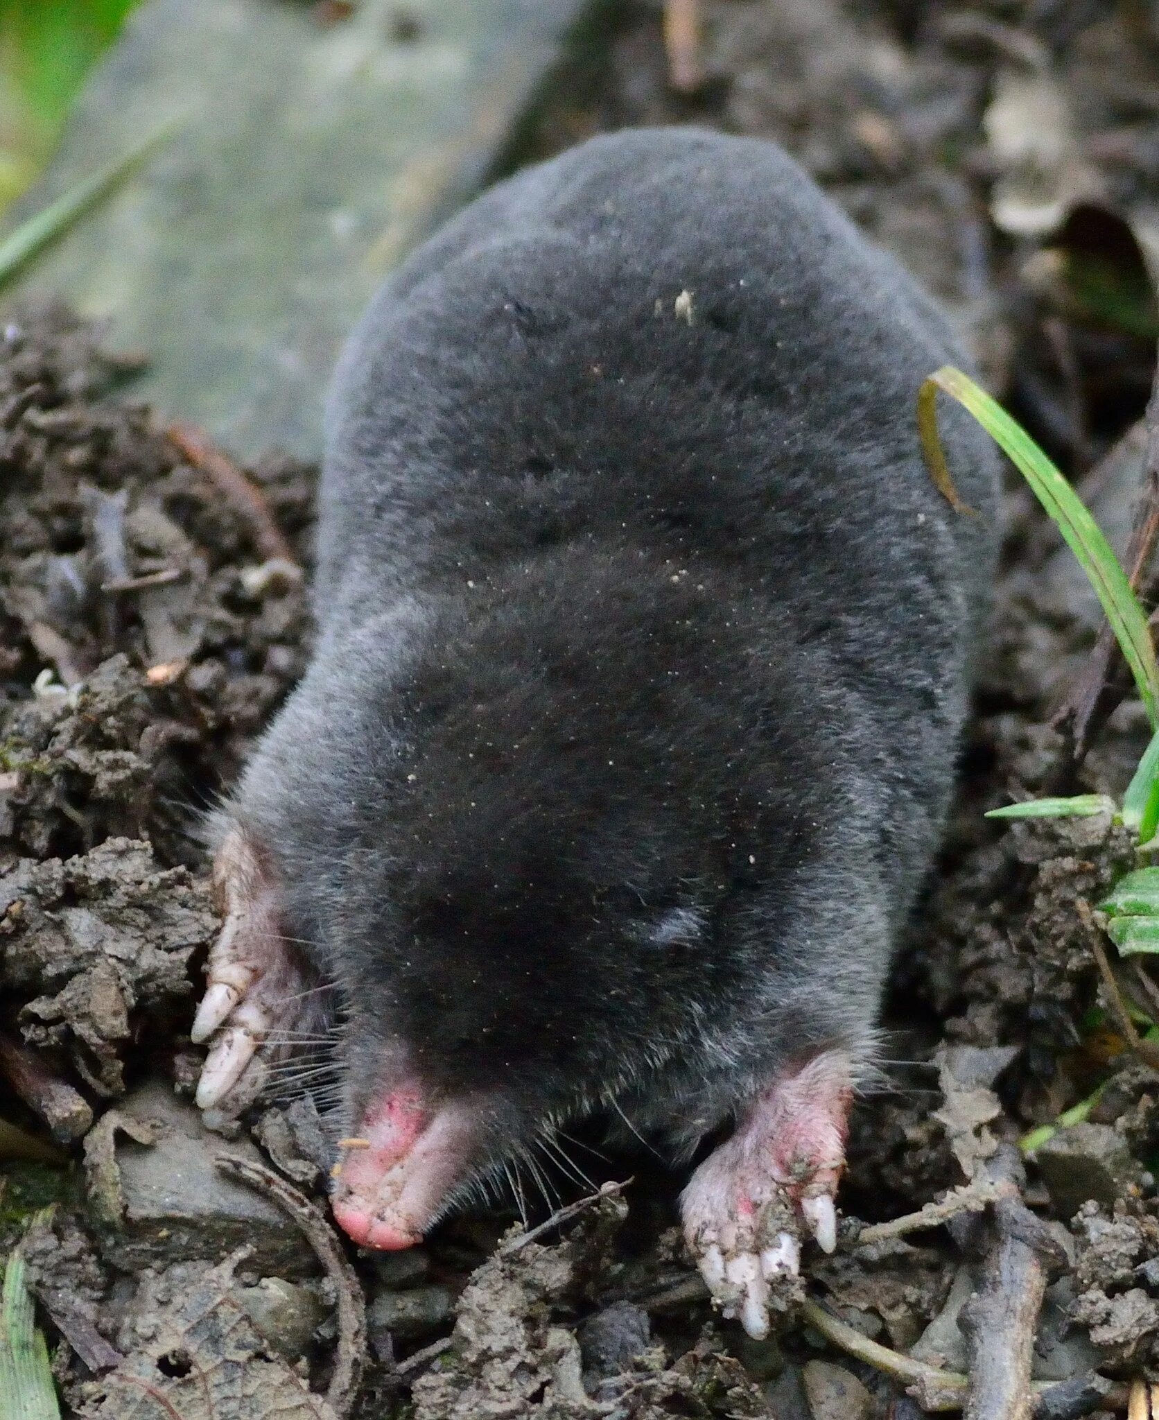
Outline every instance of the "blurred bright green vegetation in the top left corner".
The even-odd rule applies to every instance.
[[[0,0],[0,210],[53,153],[85,74],[139,0]]]

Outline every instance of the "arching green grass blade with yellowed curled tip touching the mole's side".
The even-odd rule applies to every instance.
[[[1014,463],[1031,491],[1058,524],[1082,571],[1102,604],[1115,639],[1122,648],[1152,728],[1159,728],[1159,665],[1150,640],[1146,616],[1139,606],[1131,582],[1102,530],[1085,504],[1043,453],[1030,435],[1007,412],[980,389],[967,375],[952,365],[935,371],[918,393],[918,432],[929,464],[930,477],[954,507],[963,507],[953,491],[953,480],[946,466],[937,437],[935,390],[945,390],[977,419],[981,427]],[[949,486],[949,491],[947,491]]]

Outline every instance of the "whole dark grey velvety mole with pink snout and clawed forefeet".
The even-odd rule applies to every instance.
[[[314,1089],[355,1242],[598,1115],[673,1167],[716,1142],[683,1228],[751,1335],[832,1250],[994,571],[987,436],[943,412],[977,515],[922,460],[947,361],[795,162],[695,128],[528,168],[389,275],[328,399],[312,659],[213,816],[193,1027],[203,1109]]]

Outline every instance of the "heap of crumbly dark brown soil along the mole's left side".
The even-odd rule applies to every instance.
[[[195,809],[301,670],[304,575],[57,310],[0,339],[0,1031],[102,1099],[187,1024],[217,926]],[[237,474],[237,477],[243,477]],[[254,497],[287,548],[307,471]],[[36,1108],[36,1103],[33,1108]]]

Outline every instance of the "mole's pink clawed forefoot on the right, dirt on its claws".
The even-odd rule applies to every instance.
[[[689,1250],[723,1314],[750,1336],[768,1332],[770,1281],[800,1267],[801,1224],[827,1252],[837,1245],[852,1092],[849,1058],[838,1051],[783,1075],[683,1191]]]

